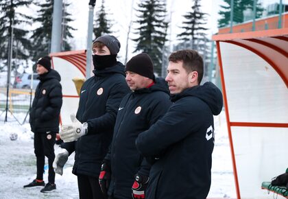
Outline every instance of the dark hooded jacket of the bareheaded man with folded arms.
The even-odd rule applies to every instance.
[[[213,115],[221,112],[221,91],[206,82],[172,100],[162,119],[136,139],[141,154],[160,155],[150,170],[145,198],[206,198],[211,185]]]

